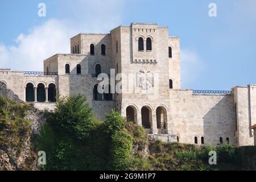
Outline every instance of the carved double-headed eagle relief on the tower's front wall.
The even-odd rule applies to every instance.
[[[149,90],[154,87],[154,74],[151,71],[144,71],[141,69],[137,73],[137,87],[142,90]]]

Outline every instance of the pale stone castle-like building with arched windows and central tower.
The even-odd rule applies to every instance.
[[[164,141],[254,144],[256,85],[181,89],[180,38],[168,27],[131,23],[109,34],[78,34],[70,49],[44,60],[44,72],[0,69],[0,81],[38,109],[53,110],[56,93],[85,94],[102,121],[116,109]],[[102,85],[101,77],[109,80]]]

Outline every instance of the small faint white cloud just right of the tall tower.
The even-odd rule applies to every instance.
[[[181,49],[180,51],[181,65],[181,83],[183,85],[191,85],[204,71],[206,65],[200,56],[191,49]]]

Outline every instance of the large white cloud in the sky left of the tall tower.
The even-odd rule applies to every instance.
[[[22,32],[14,45],[0,43],[0,68],[20,71],[43,71],[43,60],[56,53],[70,52],[70,38],[79,32],[106,32],[121,22],[123,1],[65,1],[64,19],[48,19]],[[116,10],[116,11],[115,11]],[[73,14],[72,14],[73,13]]]

